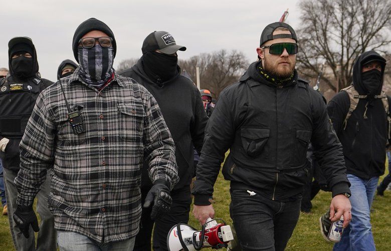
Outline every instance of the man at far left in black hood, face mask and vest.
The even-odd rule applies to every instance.
[[[14,221],[14,212],[24,210],[17,206],[18,191],[14,179],[20,170],[19,143],[25,132],[27,121],[33,111],[35,101],[46,87],[53,82],[43,79],[38,73],[37,53],[33,42],[27,37],[17,37],[8,43],[8,77],[0,80],[0,157],[3,160],[4,181],[8,204],[11,235],[17,250],[56,250],[54,219],[47,199],[50,192],[50,175],[38,193],[37,212],[41,224],[21,231]],[[40,228],[37,247],[33,229]],[[23,233],[23,234],[22,234]]]

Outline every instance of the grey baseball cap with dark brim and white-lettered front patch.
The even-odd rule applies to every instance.
[[[168,32],[154,31],[142,43],[142,54],[159,50],[164,54],[174,54],[177,51],[186,51],[186,47],[176,45],[174,38]]]

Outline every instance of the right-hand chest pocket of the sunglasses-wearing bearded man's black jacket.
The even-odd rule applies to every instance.
[[[311,140],[312,130],[296,129],[296,134],[293,137],[292,144],[292,165],[303,165],[307,161],[308,144]]]

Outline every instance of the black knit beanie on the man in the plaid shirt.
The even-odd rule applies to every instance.
[[[72,49],[73,55],[75,56],[76,61],[79,63],[77,56],[77,47],[79,45],[79,40],[90,31],[101,31],[107,34],[110,38],[113,39],[113,58],[115,58],[115,53],[117,52],[117,44],[115,43],[114,34],[111,29],[102,21],[90,18],[79,25],[73,35]]]

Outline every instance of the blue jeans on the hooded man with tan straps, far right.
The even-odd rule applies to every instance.
[[[346,175],[351,186],[351,221],[343,230],[341,241],[334,244],[333,250],[376,250],[370,224],[370,207],[379,177],[361,179],[352,174]]]

